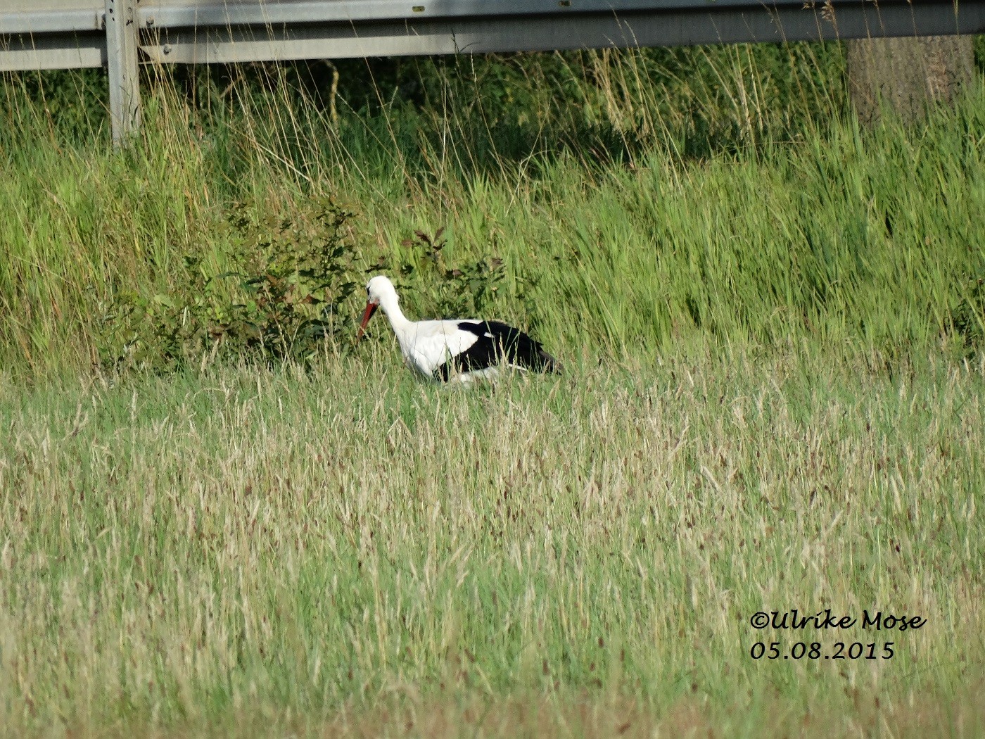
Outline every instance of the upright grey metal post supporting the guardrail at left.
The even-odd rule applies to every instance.
[[[137,0],[105,0],[106,66],[113,146],[140,125],[140,77],[137,68]]]

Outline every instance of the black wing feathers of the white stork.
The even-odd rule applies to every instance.
[[[462,321],[461,331],[476,335],[476,343],[457,357],[450,357],[435,371],[444,381],[456,372],[486,370],[504,361],[538,372],[559,372],[558,360],[544,351],[539,341],[500,321]]]

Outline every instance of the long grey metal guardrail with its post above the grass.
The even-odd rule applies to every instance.
[[[416,4],[417,3],[417,4]],[[0,71],[985,33],[985,0],[0,0]]]

